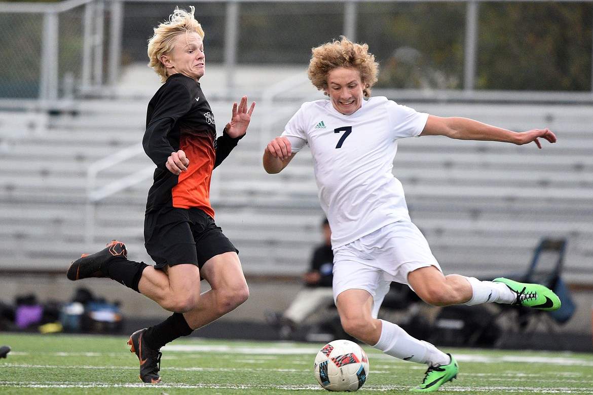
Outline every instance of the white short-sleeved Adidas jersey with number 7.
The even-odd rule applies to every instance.
[[[304,103],[286,124],[282,136],[292,152],[311,148],[333,249],[410,220],[403,187],[391,170],[397,139],[418,136],[427,119],[426,113],[372,97],[349,115],[337,112],[329,100]]]

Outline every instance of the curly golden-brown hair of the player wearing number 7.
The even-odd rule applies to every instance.
[[[340,36],[340,40],[322,44],[311,51],[311,61],[307,74],[318,90],[327,94],[327,76],[330,71],[339,67],[357,69],[361,73],[362,93],[371,97],[371,87],[377,82],[379,63],[375,55],[368,52],[367,44],[356,44]]]

